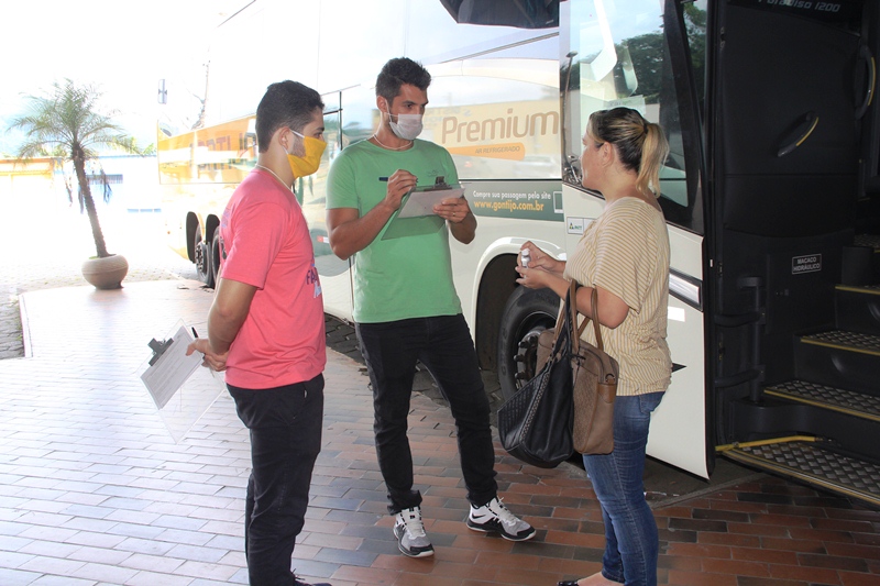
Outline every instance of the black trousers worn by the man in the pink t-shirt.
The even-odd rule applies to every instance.
[[[309,504],[321,450],[323,375],[270,389],[228,385],[251,431],[244,554],[251,586],[290,586],[290,556]]]

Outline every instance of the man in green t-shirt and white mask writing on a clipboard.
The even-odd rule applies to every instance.
[[[449,235],[470,243],[476,218],[464,198],[450,198],[433,208],[435,217],[406,220],[415,224],[410,235],[383,237],[410,189],[459,179],[446,148],[416,140],[430,82],[430,74],[411,59],[385,64],[376,78],[378,129],[342,151],[330,168],[327,196],[330,246],[340,258],[354,256],[354,321],[373,386],[376,454],[388,511],[396,517],[394,534],[411,557],[433,555],[421,494],[413,489],[406,435],[418,361],[455,418],[471,501],[468,527],[512,541],[535,537],[535,529],[497,496],[488,398],[452,283]]]

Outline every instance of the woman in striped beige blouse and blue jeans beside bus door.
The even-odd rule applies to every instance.
[[[529,268],[517,283],[548,287],[561,298],[574,279],[578,311],[603,327],[605,351],[620,366],[614,406],[614,451],[584,455],[602,506],[602,572],[560,586],[656,585],[657,523],[645,500],[642,473],[651,412],[669,386],[667,336],[669,234],[657,201],[659,170],[669,153],[662,129],[636,110],[593,113],[583,137],[583,186],[605,198],[605,209],[584,231],[566,262],[527,242]],[[598,291],[600,314],[591,296]],[[595,343],[592,328],[584,339]]]

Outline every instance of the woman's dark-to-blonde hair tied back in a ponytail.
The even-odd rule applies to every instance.
[[[586,133],[617,150],[624,168],[636,173],[641,194],[660,196],[660,166],[669,155],[669,142],[659,124],[631,108],[614,108],[590,114]]]

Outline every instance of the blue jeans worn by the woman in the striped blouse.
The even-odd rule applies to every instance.
[[[626,586],[654,586],[659,538],[645,500],[645,446],[648,425],[662,392],[617,397],[614,401],[614,451],[584,455],[584,467],[602,506],[605,555],[602,575]]]

